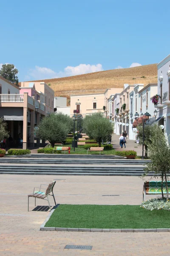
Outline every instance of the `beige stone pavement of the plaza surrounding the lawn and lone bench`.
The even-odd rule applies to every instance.
[[[0,256],[170,255],[170,233],[40,231],[49,212],[32,211],[33,198],[28,212],[27,195],[34,186],[53,179],[57,181],[54,195],[58,204],[140,204],[142,201],[143,181],[139,177],[0,175]],[[46,205],[46,201],[37,200],[37,204]],[[66,244],[93,248],[68,250],[64,249]]]

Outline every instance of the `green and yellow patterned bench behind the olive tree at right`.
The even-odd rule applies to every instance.
[[[168,191],[170,193],[170,181],[168,181]],[[163,183],[163,193],[167,193],[165,183]],[[147,181],[143,186],[143,201],[145,201],[146,195],[161,195],[161,181]]]

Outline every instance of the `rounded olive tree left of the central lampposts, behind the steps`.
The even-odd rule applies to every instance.
[[[71,130],[62,115],[61,113],[53,113],[49,117],[44,117],[36,130],[36,136],[48,140],[53,148],[56,142],[63,142]]]

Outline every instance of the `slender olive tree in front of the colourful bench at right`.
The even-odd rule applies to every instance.
[[[152,134],[150,142],[147,142],[147,147],[151,162],[146,164],[143,176],[145,177],[150,172],[160,175],[162,199],[164,198],[163,184],[165,183],[168,200],[167,176],[170,174],[170,145],[159,126],[152,126]]]

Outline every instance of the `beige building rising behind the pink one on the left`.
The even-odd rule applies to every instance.
[[[30,87],[34,84],[35,90],[40,93],[40,102],[45,105],[46,113],[54,112],[54,90],[45,82],[21,82],[21,87]]]

